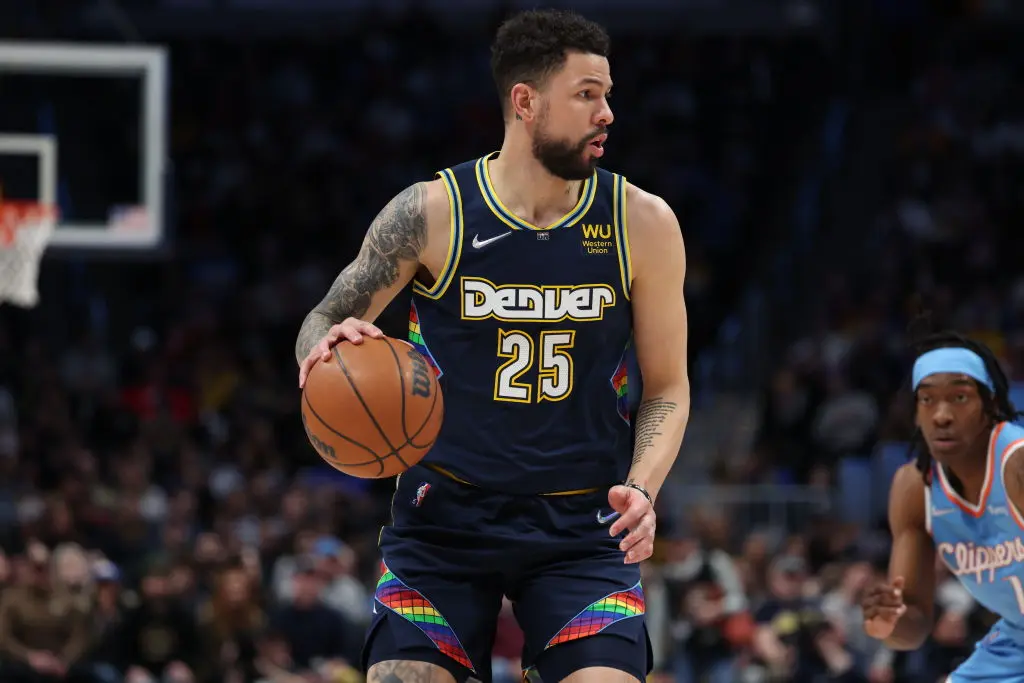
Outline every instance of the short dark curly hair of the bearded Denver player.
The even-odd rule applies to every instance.
[[[606,57],[610,47],[607,32],[575,12],[535,9],[506,19],[490,46],[502,113],[510,111],[509,91],[516,83],[540,87],[564,66],[569,52]]]

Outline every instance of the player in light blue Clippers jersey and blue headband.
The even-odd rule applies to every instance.
[[[1001,618],[948,678],[1024,681],[1024,429],[983,344],[928,339],[913,366],[915,463],[893,478],[889,583],[864,597],[864,628],[899,650],[933,628],[935,557]],[[1015,457],[1016,456],[1016,457]]]

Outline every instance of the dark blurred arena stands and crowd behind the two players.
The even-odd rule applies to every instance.
[[[0,309],[3,680],[43,680],[26,647],[83,681],[358,679],[390,482],[318,465],[294,335],[395,191],[499,145],[486,45],[512,6],[404,4],[0,5],[0,39],[166,45],[174,168],[164,255],[47,258],[42,304]],[[564,4],[613,29],[607,166],[670,202],[689,254],[654,677],[942,680],[989,618],[948,574],[919,652],[866,639],[856,601],[905,460],[909,321],[984,339],[1024,391],[1024,15]],[[506,620],[503,683],[516,651]]]

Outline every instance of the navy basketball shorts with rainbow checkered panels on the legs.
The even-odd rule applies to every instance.
[[[607,492],[509,496],[423,466],[401,475],[394,523],[381,533],[382,575],[365,671],[426,661],[456,681],[490,681],[502,597],[525,643],[522,666],[545,683],[608,667],[640,681],[650,671],[640,568],[598,522]]]

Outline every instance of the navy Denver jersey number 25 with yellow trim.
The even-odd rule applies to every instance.
[[[626,181],[598,170],[571,211],[536,226],[494,191],[496,156],[437,174],[451,247],[431,287],[414,283],[410,316],[444,392],[424,464],[510,494],[609,486],[632,453]]]

